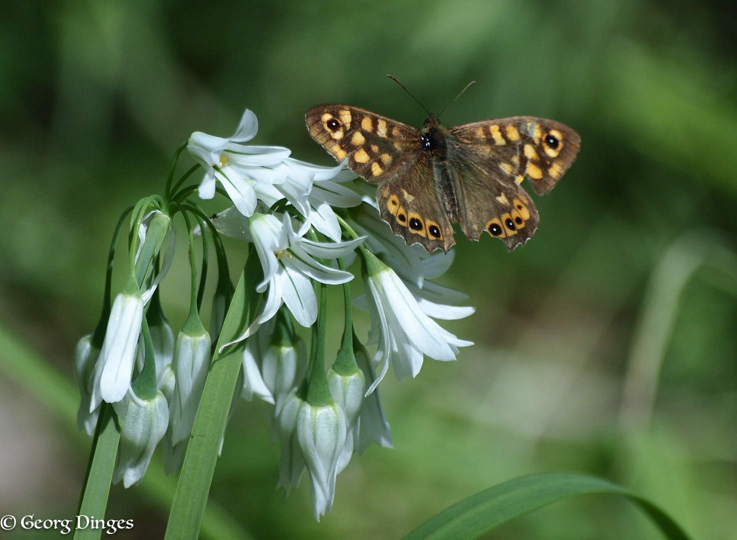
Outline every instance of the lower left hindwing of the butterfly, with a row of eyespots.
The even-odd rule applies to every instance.
[[[377,188],[381,219],[407,245],[419,243],[430,253],[436,249],[447,253],[455,239],[448,216],[438,202],[432,157],[428,152],[416,153],[416,160],[402,175],[383,181]]]

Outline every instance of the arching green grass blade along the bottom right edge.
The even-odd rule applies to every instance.
[[[515,478],[464,499],[439,513],[404,540],[472,540],[525,513],[576,495],[609,493],[627,497],[652,519],[669,540],[688,540],[660,508],[621,485],[576,473],[532,474]]]

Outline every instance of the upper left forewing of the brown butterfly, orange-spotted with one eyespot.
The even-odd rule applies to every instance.
[[[394,177],[418,157],[420,133],[366,109],[350,105],[318,105],[307,111],[307,129],[339,162],[372,183]]]

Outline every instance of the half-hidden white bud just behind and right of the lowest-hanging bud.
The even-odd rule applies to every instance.
[[[335,474],[340,474],[340,471],[343,471],[351,460],[354,446],[357,446],[363,393],[366,392],[366,377],[360,369],[349,374],[340,374],[330,368],[327,371],[327,383],[332,399],[335,399],[335,403],[340,405],[346,415],[346,443],[343,445],[338,465],[335,467]]]

